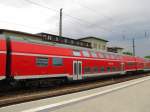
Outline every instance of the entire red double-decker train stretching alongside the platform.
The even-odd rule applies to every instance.
[[[4,31],[1,30],[0,35],[1,79],[82,80],[150,70],[150,61],[143,58],[86,48],[65,48],[24,36],[8,36]]]

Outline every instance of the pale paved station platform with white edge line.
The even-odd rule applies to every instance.
[[[0,112],[150,112],[150,76],[0,108]]]

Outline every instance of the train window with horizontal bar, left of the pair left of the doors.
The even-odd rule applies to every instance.
[[[36,58],[36,65],[40,66],[40,67],[48,66],[48,58],[37,57]]]

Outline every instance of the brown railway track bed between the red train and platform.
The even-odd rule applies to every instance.
[[[103,87],[106,85],[111,85],[111,84],[120,83],[120,82],[132,80],[136,78],[145,77],[148,75],[150,76],[149,73],[137,74],[137,75],[130,74],[130,75],[124,75],[118,77],[115,76],[109,78],[100,78],[97,80],[61,84],[51,88],[45,87],[45,88],[34,88],[34,89],[17,89],[17,90],[12,90],[7,92],[4,91],[0,93],[0,107],[74,93],[74,92],[80,92],[88,89]]]

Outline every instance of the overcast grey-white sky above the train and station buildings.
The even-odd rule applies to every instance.
[[[96,36],[109,46],[150,55],[149,0],[0,0],[0,28],[58,34],[63,8],[63,36]],[[146,32],[146,34],[145,34]]]

